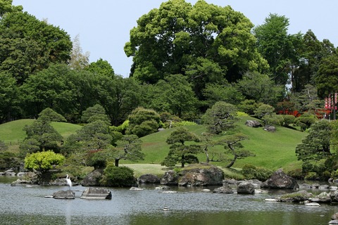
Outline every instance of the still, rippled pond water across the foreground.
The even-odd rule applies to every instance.
[[[328,224],[338,206],[306,207],[292,203],[267,203],[284,191],[254,195],[206,193],[203,188],[172,188],[162,193],[156,186],[144,191],[111,188],[112,200],[84,200],[85,187],[73,186],[75,200],[44,198],[67,186],[11,186],[13,178],[0,176],[0,224]],[[211,188],[211,187],[209,187]],[[212,187],[213,188],[217,187]],[[168,207],[169,211],[163,211]]]

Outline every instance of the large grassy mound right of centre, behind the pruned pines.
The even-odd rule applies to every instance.
[[[297,144],[306,136],[306,133],[287,129],[285,127],[277,127],[274,133],[264,131],[262,127],[252,128],[245,125],[246,120],[256,120],[252,117],[241,117],[237,122],[237,132],[249,136],[249,140],[242,141],[244,149],[250,150],[255,157],[249,157],[237,160],[234,168],[242,168],[246,164],[256,167],[264,167],[267,169],[286,170],[299,168],[301,162],[296,159],[295,148]],[[189,126],[188,129],[197,135],[201,135],[205,131],[202,125]],[[142,137],[142,151],[146,154],[144,161],[138,163],[160,164],[169,151],[169,145],[165,140],[170,135],[172,129],[165,129],[148,136]],[[222,146],[209,148],[209,152],[223,153],[225,150]],[[198,155],[200,162],[206,162],[206,155]],[[130,163],[130,162],[122,162]],[[213,165],[225,167],[228,162],[211,162]]]

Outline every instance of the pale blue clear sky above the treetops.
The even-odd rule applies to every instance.
[[[191,4],[196,1],[186,0]],[[115,74],[128,77],[132,58],[123,47],[130,39],[130,30],[137,20],[164,0],[13,0],[39,20],[65,30],[73,39],[78,35],[82,53],[89,52],[89,61],[102,58],[113,67]],[[231,6],[243,13],[254,25],[262,25],[270,13],[289,18],[289,34],[309,29],[320,40],[329,39],[338,46],[337,0],[206,0],[208,4]]]

